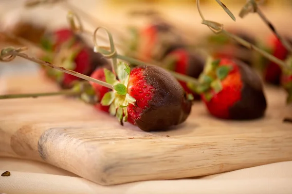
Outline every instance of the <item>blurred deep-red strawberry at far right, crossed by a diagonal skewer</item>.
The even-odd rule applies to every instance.
[[[285,60],[288,57],[288,50],[282,45],[280,40],[275,36],[268,37],[268,45],[265,50],[269,51],[272,55],[280,60]],[[274,62],[263,60],[262,65],[264,65],[264,79],[265,81],[278,85],[280,83],[280,77],[282,74],[281,67]]]

